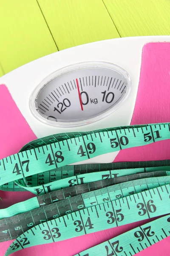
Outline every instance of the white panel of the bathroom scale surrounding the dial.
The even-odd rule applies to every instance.
[[[98,41],[90,44],[80,45],[77,47],[52,53],[50,55],[47,55],[45,57],[32,61],[26,65],[23,65],[22,67],[19,67],[16,70],[11,71],[5,76],[2,76],[0,78],[0,84],[5,84],[6,87],[8,87],[8,90],[11,93],[12,98],[16,102],[17,107],[20,109],[21,113],[23,114],[26,121],[28,122],[28,125],[30,125],[32,131],[37,137],[44,137],[50,134],[56,134],[61,132],[63,133],[68,131],[69,132],[91,131],[91,130],[100,129],[100,128],[130,125],[135,102],[136,102],[138,85],[139,85],[142,48],[144,47],[145,44],[149,42],[164,42],[164,41],[170,41],[170,36],[116,38],[111,40]],[[82,63],[82,62],[89,63],[91,61],[109,62],[111,64],[121,67],[123,70],[125,70],[125,72],[127,72],[131,80],[131,90],[127,99],[125,99],[124,102],[120,102],[121,104],[117,106],[116,104],[115,106],[113,104],[113,106],[111,106],[111,109],[107,110],[106,112],[105,110],[107,107],[105,106],[107,104],[105,103],[105,106],[103,105],[101,107],[101,111],[103,111],[103,113],[100,116],[98,115],[98,117],[97,115],[96,117],[93,117],[93,115],[95,115],[97,110],[96,111],[94,110],[94,113],[90,113],[91,106],[96,108],[95,105],[88,105],[88,108],[86,108],[87,106],[84,105],[83,108],[84,109],[86,108],[86,111],[83,112],[83,115],[84,115],[83,120],[85,120],[85,117],[87,116],[93,117],[90,120],[91,123],[87,124],[87,122],[83,123],[82,121],[77,123],[74,122],[73,123],[74,125],[72,125],[71,127],[69,127],[69,125],[65,125],[63,127],[63,125],[59,125],[59,124],[57,124],[59,126],[55,126],[56,122],[55,122],[55,125],[53,124],[54,121],[51,121],[50,123],[50,121],[48,120],[49,123],[47,123],[45,122],[45,118],[44,120],[43,118],[37,118],[35,114],[32,113],[30,108],[31,95],[32,95],[32,103],[34,103],[34,96],[36,92],[40,89],[40,87],[42,87],[42,85],[47,83],[49,79],[52,79],[54,76],[56,76],[56,74],[59,73],[58,70],[63,68],[65,70],[65,67],[67,66],[73,65],[74,67],[74,65],[77,66],[77,63]],[[65,78],[66,76],[67,74],[65,74]],[[85,73],[83,74],[83,76],[85,76]],[[95,96],[96,95],[95,93],[97,92],[97,94],[100,95],[101,97],[100,99],[100,102],[101,102],[103,99],[102,97],[104,96],[104,93],[102,94],[102,92],[105,90],[95,89],[95,91],[92,92],[91,91],[92,89],[90,90],[89,88],[90,87],[87,86],[88,94],[92,93],[91,95]],[[80,83],[79,83],[79,89],[81,92]],[[110,92],[110,90],[107,92]],[[65,115],[63,115],[63,119],[68,119],[68,117],[71,116],[71,113],[73,113],[74,110],[77,111],[78,108],[79,108],[79,112],[74,114],[74,120],[81,116],[82,112],[79,105],[80,102],[78,99],[78,94],[76,93],[78,92],[76,91],[76,87],[75,87],[75,90],[72,96],[70,95],[71,92],[69,93],[69,95],[66,94],[63,96],[64,98],[62,98],[62,101],[63,99],[68,98],[68,96],[72,97],[68,99],[73,99],[73,97],[75,98],[75,96],[77,95],[75,102],[72,101],[72,104],[69,107],[70,111],[67,110],[67,113],[65,111]],[[82,96],[83,101],[85,101],[85,98],[83,99],[84,96],[85,94]],[[107,96],[107,94],[105,94],[105,96]],[[111,101],[111,94],[109,97],[108,97],[108,102]],[[65,103],[67,106],[69,105],[68,101],[65,101]],[[57,115],[59,116],[58,111],[56,111],[55,113],[57,113]],[[100,117],[102,117],[102,119],[100,119]],[[79,163],[82,164],[82,163],[112,162],[118,153],[119,151],[104,154],[102,156],[94,157],[92,159],[85,160]]]

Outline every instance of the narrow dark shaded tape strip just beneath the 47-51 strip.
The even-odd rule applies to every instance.
[[[170,160],[156,160],[156,161],[139,161],[139,162],[119,162],[119,163],[100,163],[100,164],[83,164],[83,165],[68,165],[62,166],[58,169],[53,169],[47,172],[42,172],[40,174],[28,176],[25,178],[25,186],[33,185],[39,186],[40,183],[47,184],[54,180],[59,180],[65,177],[72,177],[79,174],[85,174],[90,172],[100,172],[100,171],[111,171],[111,170],[121,170],[121,169],[135,169],[143,168],[145,172],[150,171],[150,168],[156,170],[169,170]],[[161,169],[162,167],[162,169]],[[64,174],[67,169],[67,175]],[[122,171],[121,171],[122,172]],[[27,191],[24,187],[18,186],[14,181],[10,183],[3,184],[0,186],[0,190],[4,191]],[[40,187],[39,187],[40,188]],[[40,188],[42,189],[42,187]],[[30,190],[33,192],[33,189]]]

